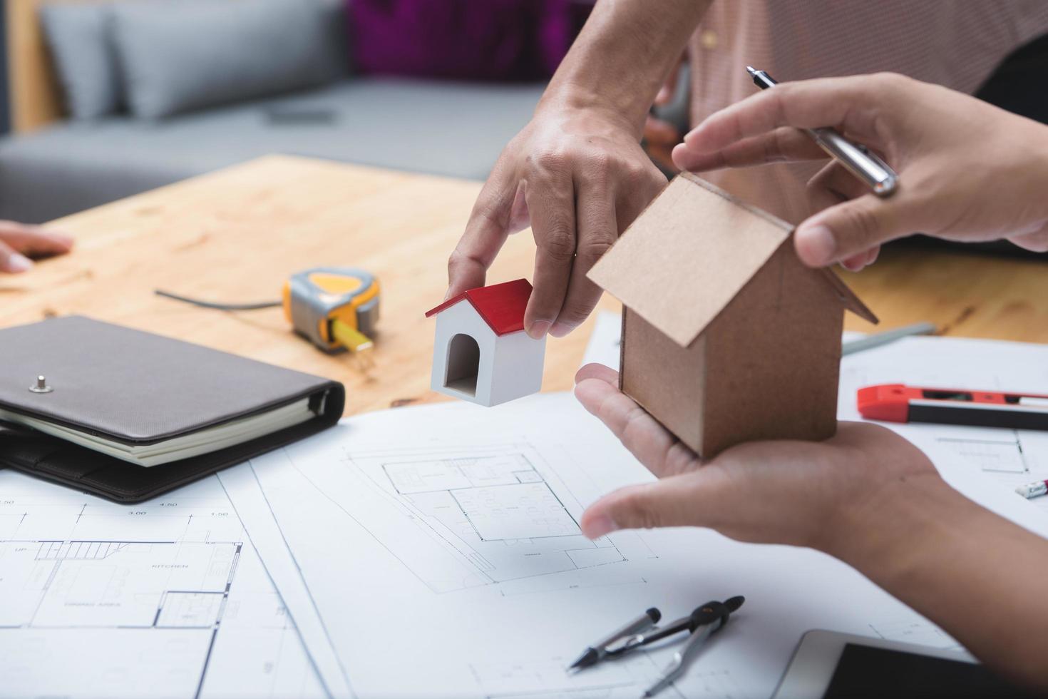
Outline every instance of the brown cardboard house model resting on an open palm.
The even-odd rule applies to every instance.
[[[877,319],[791,232],[684,173],[589,272],[624,305],[619,387],[704,458],[836,431],[844,310]]]

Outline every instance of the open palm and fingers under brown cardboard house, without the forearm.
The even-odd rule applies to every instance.
[[[823,442],[739,444],[702,461],[617,388],[618,374],[590,364],[575,396],[655,476],[589,506],[583,532],[709,527],[744,542],[809,546],[838,558],[877,523],[878,496],[900,481],[941,482],[920,450],[885,428],[842,422]]]

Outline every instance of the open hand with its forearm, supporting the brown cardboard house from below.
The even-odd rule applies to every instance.
[[[917,447],[875,424],[840,422],[822,442],[739,444],[703,462],[620,393],[616,377],[587,365],[575,395],[659,480],[590,505],[587,537],[701,526],[821,550],[1043,695],[1048,542],[1040,534],[964,498]],[[998,600],[995,613],[973,614],[984,599]]]

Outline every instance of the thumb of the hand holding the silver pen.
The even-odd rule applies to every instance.
[[[810,267],[824,267],[913,233],[901,205],[865,194],[815,214],[793,235],[796,255]]]

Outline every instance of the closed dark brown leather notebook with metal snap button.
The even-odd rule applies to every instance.
[[[82,316],[0,330],[0,465],[139,502],[339,421],[342,384]]]

